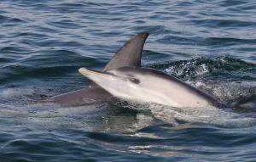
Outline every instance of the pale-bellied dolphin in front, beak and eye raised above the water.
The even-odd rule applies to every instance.
[[[80,68],[79,73],[117,98],[177,108],[225,107],[206,92],[160,70],[126,66],[103,72]]]

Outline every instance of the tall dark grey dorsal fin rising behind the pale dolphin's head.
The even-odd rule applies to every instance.
[[[141,66],[143,46],[148,33],[140,33],[126,42],[108,62],[103,71],[122,66]]]

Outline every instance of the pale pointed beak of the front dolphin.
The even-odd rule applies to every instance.
[[[111,79],[112,75],[106,74],[102,71],[90,70],[86,68],[80,68],[79,73],[88,77],[90,80],[95,81],[96,78]]]

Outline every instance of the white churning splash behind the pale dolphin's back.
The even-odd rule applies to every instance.
[[[256,94],[256,66],[241,59],[198,58],[156,66],[212,94],[223,103],[232,103]]]

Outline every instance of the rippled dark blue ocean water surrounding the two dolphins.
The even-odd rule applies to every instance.
[[[223,103],[256,94],[254,0],[0,2],[0,161],[256,161],[256,108],[40,101],[90,81],[139,32],[142,64]]]

